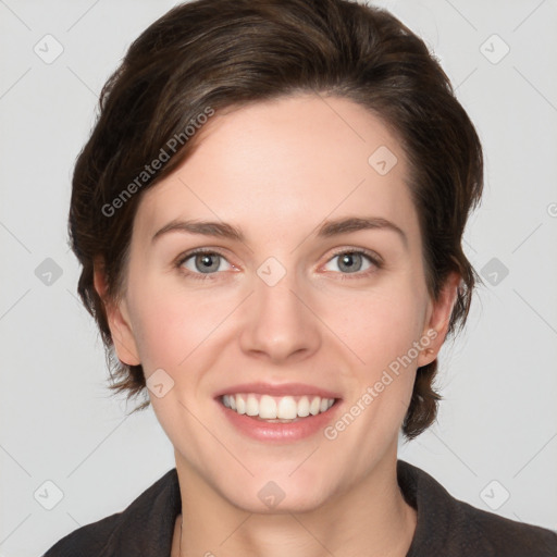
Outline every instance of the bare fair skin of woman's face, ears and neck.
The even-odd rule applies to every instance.
[[[398,433],[416,369],[445,338],[459,277],[437,300],[429,295],[401,147],[362,107],[315,95],[215,115],[198,133],[186,162],[145,193],[125,292],[107,301],[119,358],[174,381],[161,398],[149,391],[187,517],[172,555],[404,556],[417,516],[396,480]],[[368,163],[380,146],[398,159],[385,175]],[[315,236],[323,220],[349,215],[386,219],[406,244],[386,228]],[[174,219],[222,220],[246,239],[172,232],[152,242]],[[208,280],[186,274],[208,276],[195,257],[175,264],[200,247],[224,256],[213,256]],[[383,264],[363,258],[350,272],[337,249],[368,249]],[[257,274],[269,257],[286,270],[274,286]],[[100,268],[96,287],[103,295]],[[301,382],[341,394],[334,423],[428,331],[437,334],[429,351],[333,441],[255,441],[216,411],[223,387]],[[272,509],[258,497],[269,481],[285,494]]]

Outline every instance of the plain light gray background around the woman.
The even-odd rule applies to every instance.
[[[557,2],[381,4],[441,59],[486,159],[466,235],[485,286],[443,349],[438,422],[399,456],[479,508],[555,529]],[[109,396],[65,228],[100,88],[172,5],[0,0],[1,556],[41,554],[174,467],[152,410],[126,418]]]

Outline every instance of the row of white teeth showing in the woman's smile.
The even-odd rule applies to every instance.
[[[325,412],[335,403],[334,398],[302,396],[296,401],[293,396],[273,397],[271,395],[223,395],[222,404],[239,414],[259,417],[263,420],[295,420]]]

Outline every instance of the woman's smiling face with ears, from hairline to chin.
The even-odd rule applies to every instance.
[[[454,288],[428,294],[403,150],[366,109],[296,96],[199,133],[139,203],[115,347],[144,368],[181,480],[313,509],[396,458]]]

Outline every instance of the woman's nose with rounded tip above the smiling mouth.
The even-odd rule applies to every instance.
[[[278,364],[302,360],[319,349],[319,318],[295,278],[287,272],[270,286],[256,276],[239,337],[244,352]]]

